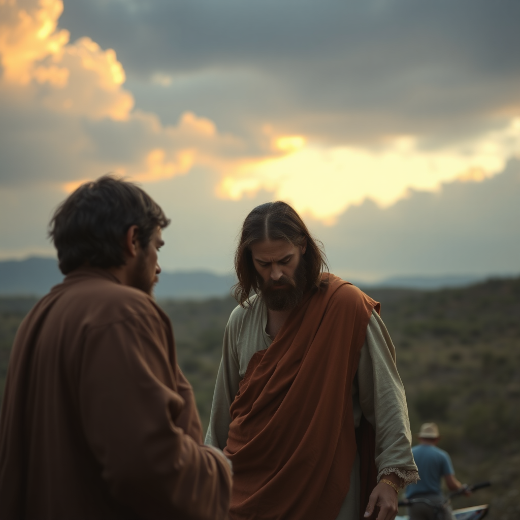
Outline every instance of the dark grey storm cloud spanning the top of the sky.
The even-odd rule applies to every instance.
[[[118,49],[138,106],[168,123],[189,107],[225,130],[436,147],[518,113],[518,19],[472,0],[70,0],[60,24]],[[139,89],[152,78],[167,94]]]

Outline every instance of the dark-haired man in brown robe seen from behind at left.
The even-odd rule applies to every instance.
[[[131,183],[78,188],[51,221],[66,275],[22,322],[0,417],[0,518],[227,517],[170,321],[150,296],[161,208]]]

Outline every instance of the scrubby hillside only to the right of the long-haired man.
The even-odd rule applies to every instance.
[[[413,433],[435,421],[462,482],[493,486],[454,505],[520,516],[520,279],[408,294],[382,305]]]

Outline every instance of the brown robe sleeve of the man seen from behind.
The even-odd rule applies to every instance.
[[[186,382],[177,385],[163,328],[159,317],[139,315],[85,333],[78,399],[86,442],[108,491],[140,518],[224,519],[231,472],[223,454],[176,424]]]

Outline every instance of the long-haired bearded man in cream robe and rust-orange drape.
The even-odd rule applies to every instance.
[[[392,520],[418,473],[379,304],[284,202],[245,218],[235,267],[205,440],[233,464],[230,518]]]

